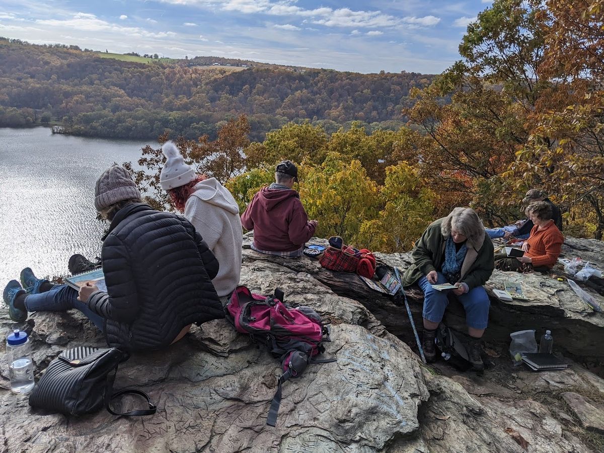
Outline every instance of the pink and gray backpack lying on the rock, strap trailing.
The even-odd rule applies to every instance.
[[[237,286],[226,304],[226,319],[237,332],[247,333],[254,341],[266,345],[281,361],[283,374],[277,382],[266,424],[275,426],[281,403],[281,384],[298,377],[310,363],[334,362],[335,359],[313,359],[324,352],[321,344],[329,341],[329,327],[324,326],[315,310],[300,306],[292,308],[283,303],[283,291],[263,296],[245,286]]]

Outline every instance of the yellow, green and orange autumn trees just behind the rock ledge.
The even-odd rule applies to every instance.
[[[217,140],[178,146],[199,172],[226,182],[241,210],[273,181],[275,164],[291,159],[318,236],[371,249],[409,249],[460,205],[486,225],[507,225],[532,187],[561,205],[565,231],[601,239],[603,17],[604,0],[495,0],[467,27],[462,60],[411,91],[415,102],[401,112],[409,127],[328,131],[307,121],[249,143],[241,116]],[[140,163],[150,172],[138,180],[164,204],[161,152],[147,147]]]

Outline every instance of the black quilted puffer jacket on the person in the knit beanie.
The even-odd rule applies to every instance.
[[[101,253],[109,294],[95,292],[88,305],[106,318],[109,345],[159,349],[189,324],[224,317],[211,282],[218,262],[184,217],[127,205],[115,214]]]

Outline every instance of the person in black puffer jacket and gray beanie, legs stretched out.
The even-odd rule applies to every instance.
[[[218,262],[184,217],[141,202],[132,176],[114,165],[98,178],[95,207],[111,221],[101,259],[107,291],[87,283],[77,292],[21,272],[4,290],[11,319],[28,312],[79,309],[109,345],[152,350],[172,344],[191,324],[223,318],[211,279]]]

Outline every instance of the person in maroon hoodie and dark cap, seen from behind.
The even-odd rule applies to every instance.
[[[241,216],[241,224],[254,230],[252,249],[269,255],[301,256],[304,243],[315,234],[316,220],[308,220],[293,190],[298,169],[291,161],[283,161],[275,170],[275,181],[254,195]]]

